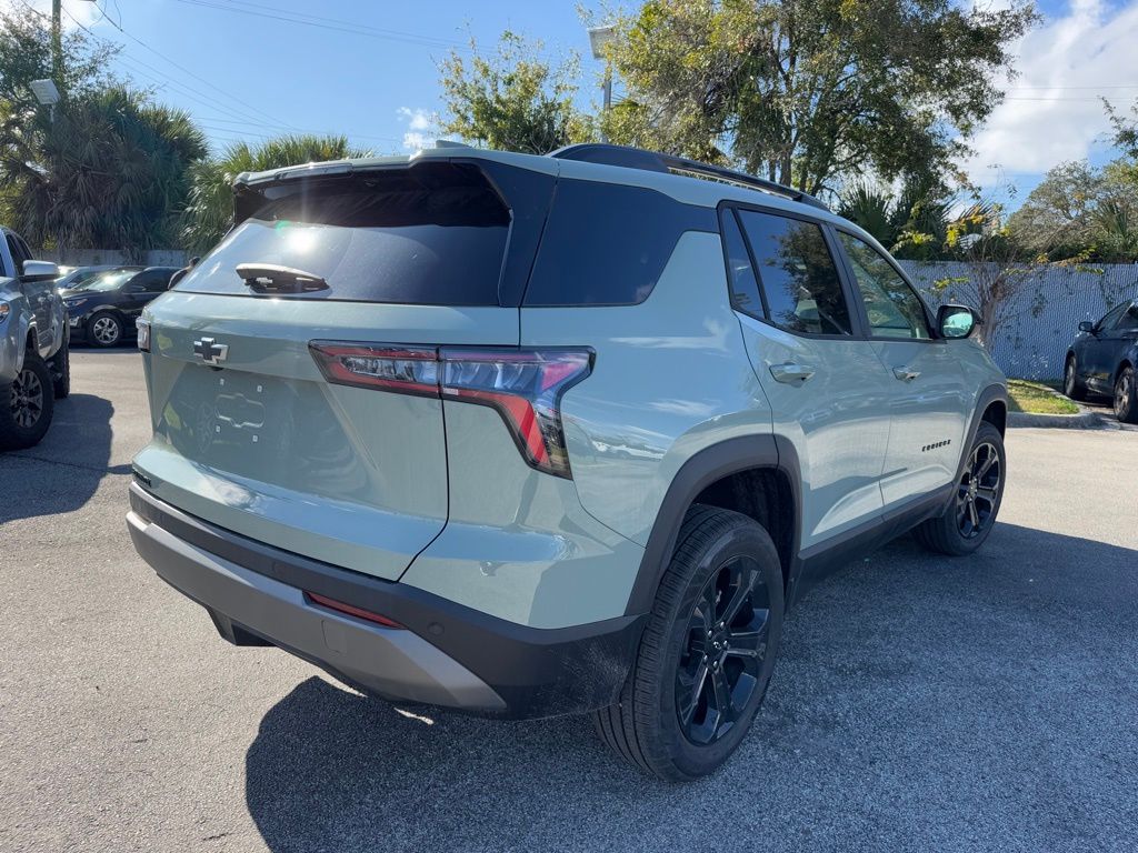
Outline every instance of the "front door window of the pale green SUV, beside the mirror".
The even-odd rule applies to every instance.
[[[838,237],[853,268],[869,333],[875,338],[931,338],[921,297],[884,255],[851,234],[838,232]]]

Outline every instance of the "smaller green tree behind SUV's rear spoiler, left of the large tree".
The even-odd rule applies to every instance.
[[[593,138],[591,119],[574,106],[579,71],[576,55],[553,66],[541,59],[542,42],[502,33],[486,56],[452,51],[439,66],[444,133],[487,148],[546,154]]]

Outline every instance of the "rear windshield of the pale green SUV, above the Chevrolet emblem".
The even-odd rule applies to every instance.
[[[289,181],[174,290],[251,295],[238,264],[279,265],[328,289],[289,298],[415,305],[497,305],[510,210],[475,166]],[[248,199],[241,201],[249,209]]]

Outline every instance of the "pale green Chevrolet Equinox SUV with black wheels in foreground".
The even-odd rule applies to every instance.
[[[701,180],[710,177],[712,180]],[[130,532],[237,645],[711,772],[786,607],[992,530],[1005,380],[794,190],[611,146],[245,174],[139,322]]]

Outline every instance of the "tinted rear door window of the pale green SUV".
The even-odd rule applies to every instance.
[[[767,318],[790,332],[851,334],[838,267],[822,229],[787,216],[740,210],[758,265]]]

